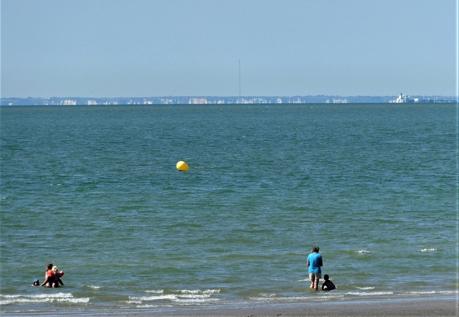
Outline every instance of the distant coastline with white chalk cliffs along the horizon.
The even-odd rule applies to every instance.
[[[2,106],[30,105],[165,105],[259,103],[387,103],[458,102],[458,96],[162,96],[162,97],[41,97],[1,98]]]

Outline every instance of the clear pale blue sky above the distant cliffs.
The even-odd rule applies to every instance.
[[[457,0],[1,0],[2,97],[456,96]]]

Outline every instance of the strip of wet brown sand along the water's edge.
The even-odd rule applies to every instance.
[[[459,296],[384,300],[349,300],[342,302],[313,302],[289,304],[257,304],[246,306],[202,306],[147,308],[107,311],[43,311],[2,313],[5,317],[18,316],[86,316],[86,317],[308,317],[308,316],[369,316],[369,317],[430,317],[459,316]]]

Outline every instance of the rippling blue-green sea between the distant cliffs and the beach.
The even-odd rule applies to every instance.
[[[4,316],[458,297],[457,103],[0,118]],[[49,262],[64,285],[31,286]]]

